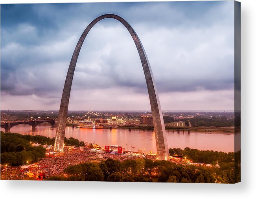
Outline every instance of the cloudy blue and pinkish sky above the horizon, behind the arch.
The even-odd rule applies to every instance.
[[[234,2],[1,5],[1,110],[58,110],[83,30],[122,16],[149,58],[162,110],[234,110]],[[140,58],[114,19],[88,33],[69,110],[150,110]]]

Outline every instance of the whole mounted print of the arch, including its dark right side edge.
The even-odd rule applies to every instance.
[[[2,4],[1,179],[239,182],[240,3]]]

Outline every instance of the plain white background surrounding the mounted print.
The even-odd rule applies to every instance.
[[[122,1],[122,0],[121,0]],[[134,0],[129,0],[134,2]],[[140,0],[143,1],[143,0]],[[0,0],[4,3],[52,3],[50,0]],[[54,2],[72,2],[54,0]],[[75,2],[97,2],[76,0]],[[105,2],[101,0],[101,2]],[[111,2],[120,2],[112,0]],[[255,85],[256,1],[241,2],[241,183],[106,183],[59,181],[0,181],[1,198],[256,198]]]

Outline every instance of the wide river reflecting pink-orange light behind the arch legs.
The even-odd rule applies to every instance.
[[[1,128],[1,131],[4,131]],[[21,133],[28,135],[43,135],[46,137],[55,137],[56,128],[50,128],[46,125],[38,125],[35,131],[32,131],[31,126],[20,124],[11,128],[13,133]],[[166,131],[169,148],[190,147],[199,150],[214,150],[223,152],[234,152],[234,135],[221,133],[202,133],[192,132],[188,134],[186,131]],[[74,137],[87,143],[96,143],[101,147],[111,144],[119,144],[126,150],[148,153],[157,152],[155,133],[150,130],[126,130],[126,129],[88,129],[88,128],[72,128],[66,127],[65,137]],[[135,147],[132,148],[131,146]]]

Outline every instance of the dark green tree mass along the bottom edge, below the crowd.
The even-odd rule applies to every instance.
[[[111,182],[171,182],[171,183],[234,183],[234,173],[220,168],[175,164],[150,159],[107,159],[69,166],[68,177],[52,176],[47,180],[111,181]]]

